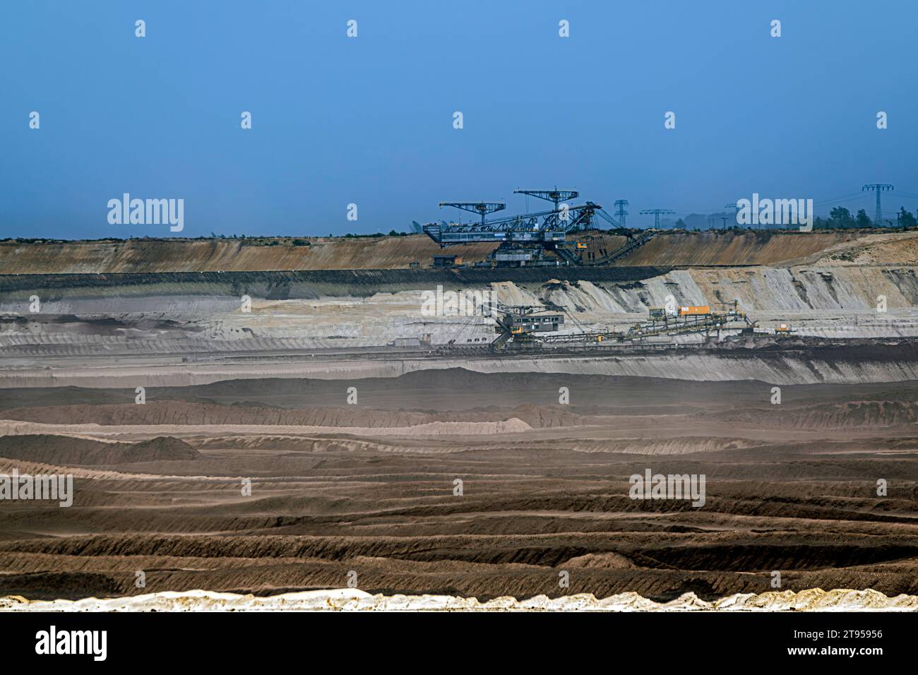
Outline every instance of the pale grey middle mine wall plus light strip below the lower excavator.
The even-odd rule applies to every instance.
[[[79,369],[56,370],[57,357],[163,354],[259,354],[313,349],[364,349],[397,338],[430,335],[434,345],[451,340],[484,347],[495,337],[485,316],[423,311],[425,293],[490,294],[500,304],[553,303],[572,321],[566,330],[611,327],[626,330],[647,310],[667,303],[710,305],[738,302],[763,332],[789,321],[798,336],[836,340],[883,339],[893,343],[918,336],[918,279],[910,266],[734,267],[727,269],[621,268],[605,270],[475,270],[452,272],[311,272],[235,274],[155,274],[107,276],[6,276],[0,279],[0,346],[18,366],[35,372],[8,372],[7,381],[28,386],[49,377],[83,377]],[[508,279],[508,277],[510,277]],[[583,278],[587,277],[587,278]],[[44,288],[44,290],[41,290]],[[39,295],[41,311],[28,311]],[[251,311],[241,309],[244,296]],[[885,311],[879,310],[880,304]],[[699,336],[677,343],[700,343]],[[472,370],[599,373],[700,379],[762,379],[774,383],[900,381],[918,376],[911,348],[868,343],[826,356],[821,343],[767,352],[760,337],[726,357],[720,349],[653,351],[599,358],[554,353],[539,356],[455,354],[426,366],[422,360],[376,358],[350,363],[294,363],[276,366],[206,364],[188,382],[214,377],[260,377],[285,371],[312,377],[347,377],[357,372],[398,375],[422,367],[465,366]],[[785,346],[789,343],[783,341]],[[875,345],[874,345],[875,346]],[[752,349],[751,347],[756,347]],[[728,350],[729,351],[729,350]],[[300,360],[302,361],[302,359]],[[51,366],[43,372],[43,366]],[[126,363],[125,368],[132,368]],[[162,377],[170,367],[157,366]],[[149,373],[151,376],[153,372]],[[9,380],[13,377],[14,380]],[[85,376],[90,377],[90,376]],[[119,377],[113,371],[91,377]],[[159,377],[159,376],[157,376]],[[205,379],[200,379],[205,377]],[[38,378],[36,380],[35,378]],[[184,381],[184,380],[183,380]]]

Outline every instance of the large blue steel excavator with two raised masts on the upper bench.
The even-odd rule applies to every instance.
[[[608,264],[624,255],[632,253],[644,243],[650,241],[652,231],[645,231],[640,236],[633,236],[625,231],[628,242],[611,252],[601,252],[598,258],[584,260],[581,252],[587,248],[582,242],[568,242],[568,235],[590,230],[596,227],[597,220],[602,219],[614,228],[620,223],[612,218],[595,202],[587,201],[576,206],[563,203],[566,199],[579,197],[576,190],[514,190],[516,194],[537,197],[552,202],[554,208],[536,213],[525,213],[501,219],[487,220],[485,216],[504,208],[500,202],[442,202],[441,207],[449,206],[478,213],[479,222],[440,222],[429,223],[422,231],[441,248],[456,244],[476,242],[495,242],[498,248],[490,253],[488,264],[492,266],[573,264],[596,265]],[[557,261],[544,255],[552,252]]]

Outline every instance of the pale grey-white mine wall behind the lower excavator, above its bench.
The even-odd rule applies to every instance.
[[[305,349],[365,347],[424,334],[430,334],[434,344],[455,340],[474,345],[494,338],[493,321],[485,317],[425,312],[425,294],[438,289],[470,292],[506,305],[558,305],[572,319],[568,330],[577,328],[575,320],[589,328],[627,329],[644,320],[653,307],[724,309],[736,301],[763,330],[789,321],[800,335],[907,337],[918,335],[915,271],[910,266],[801,265],[554,273],[6,276],[0,278],[0,315],[6,315],[0,319],[0,339],[17,349],[28,344],[79,347],[129,340],[132,346],[126,349],[144,345],[152,351],[207,351],[283,349],[285,344]],[[29,310],[33,296],[41,302],[37,313]],[[249,312],[242,311],[245,297],[251,299]],[[168,349],[169,344],[174,349]]]

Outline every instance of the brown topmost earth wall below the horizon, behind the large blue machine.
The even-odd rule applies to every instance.
[[[854,242],[876,231],[659,232],[649,243],[615,263],[645,265],[779,264]],[[895,234],[914,237],[915,232]],[[577,235],[588,249],[612,251],[622,236],[595,231]],[[107,274],[131,272],[247,272],[256,270],[408,269],[431,266],[436,253],[484,261],[493,243],[441,249],[425,235],[403,237],[313,237],[297,240],[143,239],[99,242],[0,242],[0,274]],[[266,245],[274,243],[276,245]],[[899,262],[899,261],[889,261]]]

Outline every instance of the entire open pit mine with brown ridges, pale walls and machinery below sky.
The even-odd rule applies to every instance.
[[[0,611],[918,608],[918,232],[595,224],[0,242]]]

